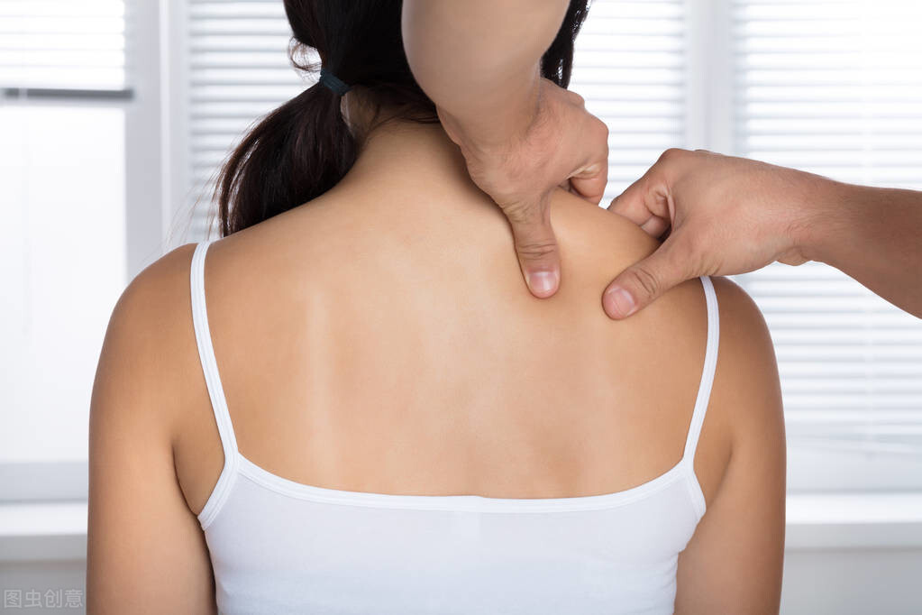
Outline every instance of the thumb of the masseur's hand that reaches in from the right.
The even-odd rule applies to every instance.
[[[644,309],[672,287],[694,278],[691,261],[681,253],[680,235],[670,236],[656,252],[621,272],[602,293],[610,318],[625,318]]]

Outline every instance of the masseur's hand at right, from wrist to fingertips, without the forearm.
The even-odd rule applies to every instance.
[[[609,284],[605,312],[628,316],[698,276],[745,273],[774,261],[804,263],[806,205],[826,182],[755,160],[668,149],[609,207],[666,240]]]

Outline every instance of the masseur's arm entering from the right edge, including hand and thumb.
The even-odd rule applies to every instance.
[[[803,171],[670,149],[609,210],[662,246],[603,294],[613,318],[700,275],[822,261],[922,318],[922,192],[834,182]]]

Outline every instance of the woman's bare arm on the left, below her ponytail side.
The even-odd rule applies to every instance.
[[[91,614],[214,612],[207,547],[172,456],[183,396],[172,353],[192,335],[188,253],[178,248],[129,285],[103,342],[89,419]]]

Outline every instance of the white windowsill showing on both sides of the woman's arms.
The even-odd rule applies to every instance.
[[[787,496],[786,550],[922,548],[922,493]],[[87,503],[0,503],[0,562],[83,560]]]

